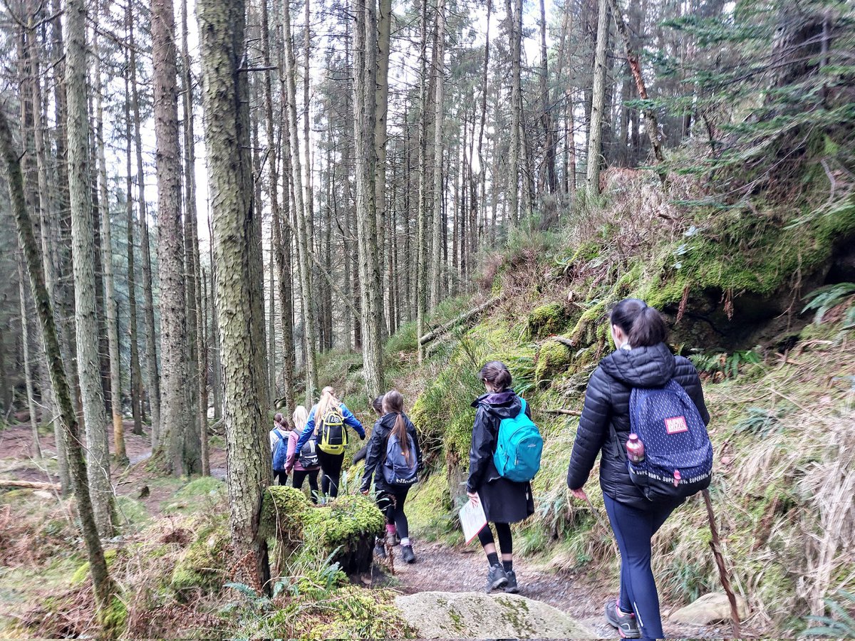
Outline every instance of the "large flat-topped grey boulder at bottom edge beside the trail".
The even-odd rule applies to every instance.
[[[418,638],[596,638],[547,603],[518,594],[418,592],[395,605]]]

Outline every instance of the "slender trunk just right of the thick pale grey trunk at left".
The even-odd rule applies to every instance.
[[[113,279],[113,236],[110,229],[109,196],[107,190],[107,156],[103,132],[103,85],[101,83],[101,55],[95,35],[95,78],[97,156],[98,156],[98,204],[101,207],[101,264],[103,268],[104,308],[106,309],[107,345],[109,349],[109,394],[110,411],[113,415],[113,443],[115,461],[127,465],[125,451],[125,424],[121,416],[121,363],[119,362],[119,321],[115,307],[115,284]]]

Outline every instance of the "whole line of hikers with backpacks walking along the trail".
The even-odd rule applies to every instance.
[[[697,370],[671,353],[668,327],[656,309],[628,298],[611,309],[609,323],[616,349],[588,381],[567,485],[573,497],[590,504],[582,488],[600,455],[605,510],[621,555],[620,591],[606,601],[605,619],[622,638],[663,638],[651,539],[687,497],[710,485],[710,415]],[[510,526],[534,514],[531,480],[540,469],[543,439],[528,404],[511,388],[503,362],[487,362],[479,379],[485,393],[472,403],[466,494],[471,506],[483,510],[475,527],[484,523],[477,538],[488,565],[486,591],[517,592]],[[385,557],[399,542],[404,561],[413,563],[404,504],[422,471],[418,433],[397,390],[375,398],[373,407],[379,418],[354,461],[364,456],[359,489],[369,495],[373,482],[377,506],[386,516],[374,555]],[[295,429],[286,433],[286,421],[277,414],[270,432],[275,478],[284,485],[293,471],[297,488],[308,478],[316,503],[321,473],[322,495],[336,497],[348,443],[345,426],[364,439],[362,424],[331,387],[323,389],[308,415],[299,406],[293,420]],[[475,538],[475,528],[472,532]]]

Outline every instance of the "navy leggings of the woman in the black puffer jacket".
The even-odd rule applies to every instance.
[[[659,596],[650,567],[650,540],[680,503],[637,509],[603,495],[605,511],[621,550],[621,596],[624,612],[634,612],[641,638],[664,638]]]

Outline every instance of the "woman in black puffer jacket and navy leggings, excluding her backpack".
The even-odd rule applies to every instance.
[[[597,454],[602,455],[599,484],[621,550],[620,597],[606,602],[606,620],[625,638],[663,638],[650,542],[682,501],[651,503],[629,479],[622,454],[630,432],[629,396],[634,387],[662,387],[674,379],[705,424],[710,414],[698,372],[686,358],[671,354],[664,343],[668,328],[656,309],[627,298],[612,310],[610,323],[616,350],[599,363],[588,381],[567,485],[575,497],[587,499],[582,486]]]

